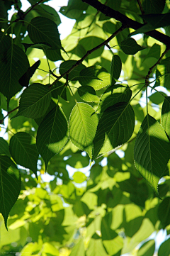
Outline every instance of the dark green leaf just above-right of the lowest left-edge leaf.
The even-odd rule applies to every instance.
[[[16,133],[10,140],[9,150],[17,165],[31,169],[37,177],[38,150],[28,133]]]

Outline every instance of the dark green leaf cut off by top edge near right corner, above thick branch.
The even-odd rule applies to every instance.
[[[165,6],[165,0],[145,0],[142,3],[145,14],[162,13]]]

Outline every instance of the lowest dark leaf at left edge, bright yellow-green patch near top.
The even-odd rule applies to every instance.
[[[18,199],[21,190],[21,177],[13,161],[0,156],[0,213],[7,229],[8,214]]]

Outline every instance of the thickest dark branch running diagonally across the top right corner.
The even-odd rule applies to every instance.
[[[97,0],[81,0],[81,1],[85,2],[86,4],[89,4],[90,6],[93,6],[95,9],[97,9],[98,11],[101,11],[101,13],[105,14],[106,16],[110,18],[115,18],[117,21],[120,21],[121,23],[125,24],[128,28],[133,28],[137,30],[138,28],[141,28],[142,26],[144,26],[140,22],[133,21],[131,18],[128,18],[127,16],[123,15],[119,11],[115,11],[108,6],[105,6],[104,4],[101,4]],[[167,46],[170,46],[170,38],[168,35],[164,35],[158,32],[157,30],[152,30],[145,34],[151,36],[154,39],[157,39],[159,42],[162,42]]]

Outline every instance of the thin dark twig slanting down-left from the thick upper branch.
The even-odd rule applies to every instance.
[[[57,81],[59,81],[62,77],[64,77],[65,75],[68,75],[70,72],[72,72],[72,70],[79,66],[85,59],[86,57],[88,57],[92,52],[94,52],[95,50],[98,50],[99,48],[101,48],[102,46],[108,45],[108,42],[111,41],[116,35],[118,35],[118,33],[120,33],[121,31],[123,31],[125,28],[127,28],[125,25],[121,26],[118,30],[115,31],[115,33],[113,33],[113,35],[111,35],[107,40],[105,40],[103,43],[101,43],[100,45],[97,45],[95,48],[88,50],[86,52],[86,54],[81,57],[80,60],[78,60],[69,70],[67,70],[67,72],[64,72],[63,74],[60,75],[60,77],[57,77],[57,79],[55,80],[55,82],[53,82],[49,88],[51,88],[54,84],[57,83]]]

